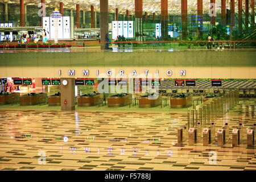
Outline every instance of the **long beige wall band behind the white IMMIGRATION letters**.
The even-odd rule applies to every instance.
[[[126,77],[132,78],[136,78],[136,76],[131,76],[133,70],[137,72],[137,78],[145,77],[144,70],[148,70],[148,74],[152,74],[148,77],[152,78],[155,77],[156,70],[159,70],[159,78],[256,78],[256,67],[0,67],[0,77],[97,78],[97,70],[103,73],[100,77],[108,77],[106,71],[109,69],[112,69],[113,78],[119,75],[119,70],[123,70]],[[172,71],[171,76],[166,74],[168,69]],[[59,76],[59,70],[61,70],[61,76]],[[75,70],[75,76],[69,76],[69,70]],[[82,70],[89,70],[89,76],[82,76]],[[185,76],[180,75],[181,70],[186,71]]]

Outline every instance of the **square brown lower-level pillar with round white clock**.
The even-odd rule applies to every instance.
[[[63,85],[63,80],[67,80],[68,84]],[[60,78],[60,106],[63,111],[75,110],[75,79],[74,78]]]

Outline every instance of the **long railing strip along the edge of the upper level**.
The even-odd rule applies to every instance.
[[[54,44],[53,41],[48,41],[48,43],[42,42],[29,42],[25,44],[20,44],[19,42],[0,42],[0,50],[26,50],[35,51],[40,49],[57,49],[58,52],[63,51],[150,51],[150,50],[163,50],[163,51],[175,51],[180,49],[207,49],[208,41],[148,41],[148,42],[136,42],[136,41],[124,41],[124,42],[112,42],[109,44],[108,50],[101,50],[101,45],[106,45],[108,43],[102,43],[98,40],[65,40],[59,41],[58,44]],[[212,44],[212,49],[255,49],[256,40],[216,40],[210,42]]]

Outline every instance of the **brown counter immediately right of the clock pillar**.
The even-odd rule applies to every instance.
[[[102,104],[103,94],[84,94],[83,96],[77,97],[77,106],[95,106]]]

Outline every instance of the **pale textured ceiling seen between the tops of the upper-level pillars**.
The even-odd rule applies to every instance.
[[[187,0],[188,1],[188,13],[197,13],[197,0]],[[0,0],[0,2],[7,3],[17,3],[19,0]],[[38,6],[41,1],[39,0],[24,0],[27,5]],[[100,10],[100,0],[45,0],[46,7],[57,7],[59,8],[59,3],[63,2],[64,9],[76,9],[76,4],[80,5],[80,10],[90,11],[90,6],[94,6],[94,11]],[[135,0],[109,0],[109,11],[114,12],[115,8],[119,9],[119,13],[123,14],[126,10],[130,11],[130,14],[134,14],[134,2]],[[237,11],[238,1],[235,1],[235,8]],[[243,1],[243,7],[245,1]],[[230,9],[230,1],[226,1],[227,9]],[[204,13],[209,12],[210,0],[203,1]],[[148,14],[156,13],[160,14],[161,0],[143,0],[143,12]],[[216,0],[216,11],[220,13],[221,11],[221,0]],[[181,13],[181,0],[169,0],[168,1],[168,13],[169,14],[180,14]]]

